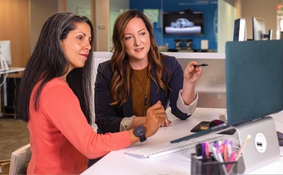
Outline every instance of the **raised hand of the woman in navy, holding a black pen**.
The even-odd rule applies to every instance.
[[[202,75],[201,67],[194,67],[197,65],[195,61],[192,61],[188,64],[184,71],[184,81],[188,81],[189,83],[195,83],[200,76]]]

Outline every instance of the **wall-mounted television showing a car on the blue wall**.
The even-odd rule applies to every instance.
[[[163,12],[163,34],[203,35],[202,11]]]

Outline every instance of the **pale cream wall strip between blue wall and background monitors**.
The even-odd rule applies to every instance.
[[[218,0],[217,52],[225,52],[227,41],[233,40],[234,20],[237,19],[235,0]]]

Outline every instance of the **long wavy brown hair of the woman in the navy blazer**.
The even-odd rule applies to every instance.
[[[113,102],[111,105],[119,105],[120,107],[127,101],[130,94],[130,81],[132,75],[132,68],[130,66],[128,55],[124,44],[124,29],[128,22],[134,18],[141,18],[146,26],[150,38],[150,49],[148,52],[148,69],[147,75],[155,82],[158,87],[161,87],[167,94],[167,86],[170,79],[169,70],[163,66],[161,60],[166,55],[159,53],[157,44],[153,36],[153,28],[149,19],[139,10],[128,10],[118,16],[114,23],[113,29],[113,55],[111,58],[111,71],[113,77],[111,80],[110,91]],[[153,79],[150,70],[152,66],[156,67],[156,80]],[[162,82],[161,78],[163,71],[168,72],[167,86]],[[159,88],[158,88],[159,90]]]

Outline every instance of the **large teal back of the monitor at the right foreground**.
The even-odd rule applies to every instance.
[[[226,43],[229,125],[283,110],[283,40]]]

